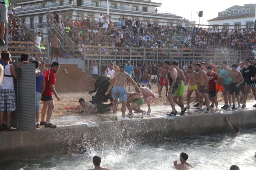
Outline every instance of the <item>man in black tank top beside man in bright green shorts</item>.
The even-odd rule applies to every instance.
[[[171,109],[172,109],[172,111],[169,114],[167,114],[167,116],[176,116],[177,110],[175,109],[173,96],[176,93],[176,90],[178,89],[178,82],[177,82],[178,73],[177,73],[176,69],[171,67],[171,63],[168,60],[165,61],[164,64],[166,65],[166,68],[168,69],[168,77],[166,77],[166,79],[169,80],[169,85],[170,85],[167,100],[170,102]]]

